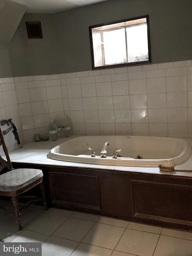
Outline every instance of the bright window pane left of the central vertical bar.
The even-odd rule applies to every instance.
[[[126,62],[125,29],[103,32],[103,47],[105,65]]]

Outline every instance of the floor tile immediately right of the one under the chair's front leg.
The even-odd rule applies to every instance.
[[[35,232],[51,235],[67,219],[64,216],[43,214],[33,222],[27,229]]]

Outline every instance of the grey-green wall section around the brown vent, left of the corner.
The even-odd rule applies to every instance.
[[[26,21],[41,21],[43,39],[28,39]],[[14,76],[58,73],[52,14],[26,13],[8,47]]]

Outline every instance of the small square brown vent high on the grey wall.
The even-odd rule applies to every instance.
[[[43,38],[40,21],[26,21],[28,38]]]

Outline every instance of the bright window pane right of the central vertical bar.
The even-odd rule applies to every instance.
[[[149,60],[147,24],[130,26],[126,32],[128,62]]]

